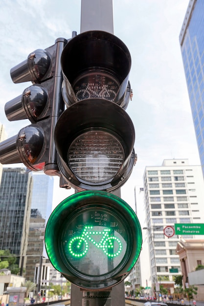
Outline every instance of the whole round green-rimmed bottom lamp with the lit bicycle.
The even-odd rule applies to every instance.
[[[66,198],[45,229],[45,248],[54,268],[89,290],[107,289],[124,280],[141,244],[135,212],[105,191],[83,191]]]

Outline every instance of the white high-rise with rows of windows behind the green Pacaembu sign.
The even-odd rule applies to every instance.
[[[174,279],[181,274],[176,254],[181,236],[168,238],[163,230],[175,223],[204,223],[202,167],[190,166],[188,159],[166,159],[162,166],[146,167],[143,180],[152,283],[163,284],[172,294]]]

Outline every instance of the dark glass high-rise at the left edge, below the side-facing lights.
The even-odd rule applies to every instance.
[[[21,264],[27,249],[32,178],[24,168],[3,168],[0,183],[0,249]]]

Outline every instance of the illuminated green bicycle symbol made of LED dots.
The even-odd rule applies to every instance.
[[[102,249],[108,257],[113,258],[118,256],[122,250],[122,243],[117,237],[109,235],[111,229],[107,228],[103,231],[93,231],[92,228],[92,226],[85,226],[81,236],[73,237],[69,241],[68,250],[71,256],[76,258],[85,256],[89,249],[89,242],[92,242],[95,247]],[[90,235],[103,236],[99,242],[96,242]],[[115,246],[113,246],[115,244],[114,242],[117,242],[117,251],[115,251]]]

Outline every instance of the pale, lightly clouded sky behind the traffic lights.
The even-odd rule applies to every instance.
[[[143,187],[146,166],[160,166],[172,158],[188,158],[190,165],[200,165],[179,44],[188,3],[113,0],[114,35],[132,57],[134,95],[127,112],[136,131],[137,163],[121,197],[133,208],[134,187]],[[30,124],[9,122],[5,116],[5,103],[31,85],[14,84],[10,69],[35,49],[45,49],[59,37],[68,39],[72,31],[79,34],[80,18],[81,0],[0,1],[0,123],[8,137]],[[58,185],[55,178],[53,206],[73,193]]]

